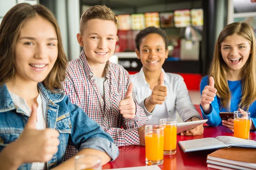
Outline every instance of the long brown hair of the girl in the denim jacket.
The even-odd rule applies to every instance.
[[[32,17],[40,15],[48,20],[55,28],[58,38],[57,60],[42,82],[45,88],[55,92],[55,89],[62,89],[61,82],[65,79],[67,57],[64,53],[61,40],[61,31],[52,12],[42,5],[29,5],[20,3],[11,8],[0,25],[0,86],[15,76],[15,45],[23,24]]]

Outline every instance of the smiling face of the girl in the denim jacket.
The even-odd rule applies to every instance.
[[[58,40],[52,23],[36,15],[26,21],[15,45],[15,78],[42,82],[58,57]]]

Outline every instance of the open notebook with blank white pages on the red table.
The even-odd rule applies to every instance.
[[[216,149],[230,146],[256,148],[256,141],[240,139],[233,136],[217,136],[216,138],[193,139],[180,141],[178,144],[183,152]]]

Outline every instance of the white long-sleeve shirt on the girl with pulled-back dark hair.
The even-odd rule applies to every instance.
[[[166,109],[157,109],[158,106],[156,105],[151,113],[146,110],[144,105],[145,99],[151,95],[152,90],[145,80],[143,68],[140,69],[139,73],[131,75],[131,81],[134,84],[134,92],[137,96],[137,101],[144,109],[148,119],[156,119],[154,122],[158,123],[159,119],[163,118],[177,119],[176,111],[179,113],[183,122],[186,122],[194,116],[201,119],[200,114],[192,104],[183,77],[179,74],[166,73],[163,68],[162,71],[164,73],[164,85],[167,87],[167,97],[163,103]],[[161,111],[167,111],[168,113],[161,113]]]

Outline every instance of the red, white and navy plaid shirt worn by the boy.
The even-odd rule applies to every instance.
[[[63,88],[70,101],[78,105],[87,115],[97,122],[114,140],[117,146],[140,144],[138,127],[144,125],[147,117],[137,104],[133,91],[132,96],[136,103],[136,114],[133,119],[126,119],[119,111],[119,102],[124,98],[131,78],[128,72],[120,65],[107,62],[105,66],[106,81],[104,82],[105,107],[99,88],[93,79],[93,72],[84,54],[69,62]],[[121,128],[122,127],[122,128]],[[68,159],[77,151],[67,146]]]

